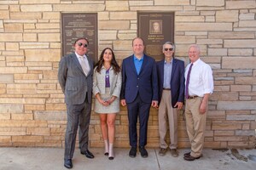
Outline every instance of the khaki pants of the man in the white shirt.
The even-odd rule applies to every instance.
[[[186,100],[185,116],[187,132],[191,144],[191,156],[201,156],[204,145],[204,133],[206,130],[207,111],[205,114],[200,114],[200,105],[202,98]]]

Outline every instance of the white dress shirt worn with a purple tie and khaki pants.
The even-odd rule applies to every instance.
[[[189,65],[185,70],[185,82],[189,71]],[[212,68],[201,59],[197,59],[192,66],[189,78],[189,96],[200,96],[204,94],[212,94],[213,92],[213,77]]]

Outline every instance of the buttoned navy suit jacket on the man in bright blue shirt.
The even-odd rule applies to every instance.
[[[144,103],[158,100],[158,83],[156,63],[153,58],[144,54],[143,65],[139,75],[133,61],[133,55],[123,60],[122,64],[122,88],[120,99],[131,103],[137,94]]]

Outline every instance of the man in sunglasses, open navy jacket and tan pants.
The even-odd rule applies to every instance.
[[[175,45],[166,42],[163,45],[165,59],[157,62],[159,87],[159,134],[160,156],[166,155],[168,147],[173,157],[177,152],[177,110],[182,109],[184,102],[184,62],[174,59]],[[169,127],[171,144],[166,143],[167,127]]]

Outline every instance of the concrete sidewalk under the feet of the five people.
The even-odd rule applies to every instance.
[[[255,170],[256,167],[256,150],[238,150],[238,156],[234,156],[231,150],[204,149],[203,157],[195,161],[183,160],[188,149],[179,150],[176,158],[171,156],[170,150],[166,156],[158,156],[158,149],[148,149],[148,158],[141,157],[138,152],[131,158],[128,148],[115,148],[113,161],[103,155],[102,148],[91,148],[90,151],[96,156],[91,160],[80,155],[79,149],[75,150],[74,170]],[[0,148],[0,169],[67,170],[63,166],[63,152],[60,148]]]

